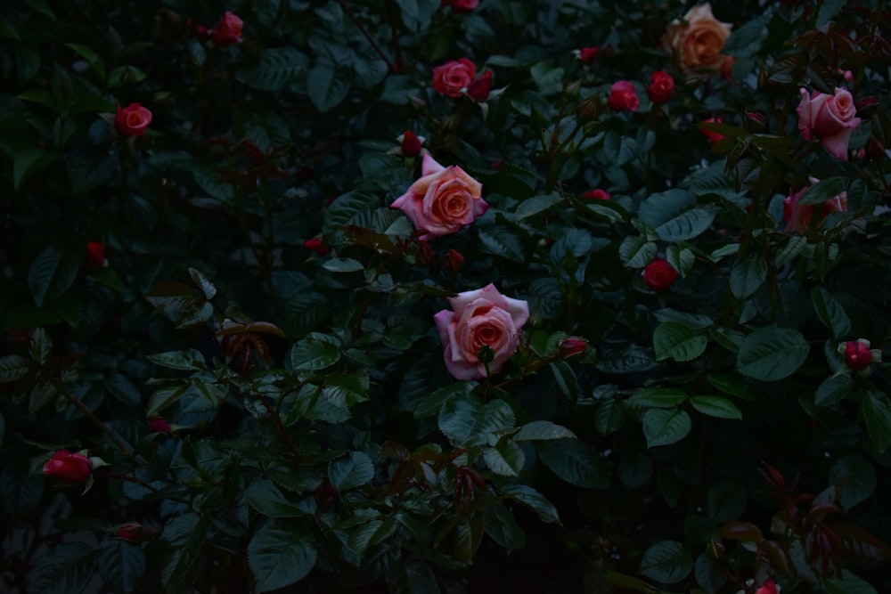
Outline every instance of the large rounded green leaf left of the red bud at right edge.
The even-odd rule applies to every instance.
[[[761,381],[788,378],[805,362],[810,350],[797,330],[765,326],[743,339],[737,369]]]

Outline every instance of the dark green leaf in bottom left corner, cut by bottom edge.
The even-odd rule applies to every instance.
[[[94,548],[86,542],[62,542],[39,555],[28,577],[28,591],[72,594],[93,578]]]

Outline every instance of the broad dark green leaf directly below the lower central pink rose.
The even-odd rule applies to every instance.
[[[450,396],[439,411],[439,430],[462,448],[498,443],[501,432],[516,423],[511,405],[503,400],[482,403],[476,395]]]

